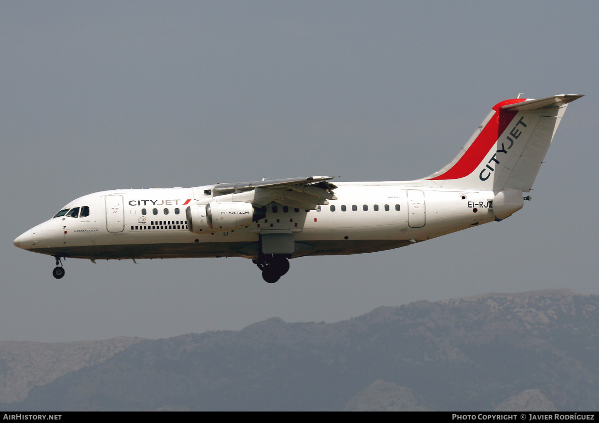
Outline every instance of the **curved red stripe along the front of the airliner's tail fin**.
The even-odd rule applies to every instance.
[[[431,180],[438,179],[460,179],[471,174],[476,167],[483,161],[489,150],[497,142],[497,139],[503,134],[507,126],[512,122],[513,118],[518,114],[517,111],[502,110],[501,107],[508,104],[515,104],[522,101],[526,101],[525,98],[513,98],[510,100],[502,101],[493,107],[495,114],[491,117],[491,120],[485,125],[476,140],[468,147],[468,150],[464,155],[459,158],[455,165],[453,165],[445,173],[431,178]]]

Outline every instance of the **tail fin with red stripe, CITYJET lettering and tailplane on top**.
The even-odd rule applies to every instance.
[[[530,191],[565,108],[580,97],[497,103],[456,158],[425,180],[443,188]]]

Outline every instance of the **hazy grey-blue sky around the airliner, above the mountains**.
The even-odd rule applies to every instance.
[[[338,321],[485,292],[599,294],[599,4],[0,2],[0,340],[60,342]],[[263,177],[409,180],[492,105],[572,103],[500,223],[387,252],[291,261],[54,260],[12,241],[90,192]]]

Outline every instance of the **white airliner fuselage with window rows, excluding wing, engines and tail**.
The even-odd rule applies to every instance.
[[[89,207],[84,217],[58,216],[20,235],[19,247],[84,259],[258,257],[259,234],[291,231],[292,257],[374,252],[409,245],[495,220],[493,192],[449,191],[381,183],[338,183],[337,200],[320,210],[268,204],[258,222],[231,231],[193,234],[185,208],[197,188],[104,191],[63,209]]]

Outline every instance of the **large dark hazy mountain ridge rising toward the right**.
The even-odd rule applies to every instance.
[[[595,410],[599,296],[379,307],[347,321],[143,340],[18,410]],[[7,404],[8,405],[8,404]]]

